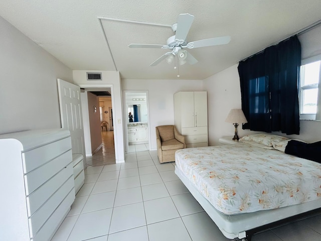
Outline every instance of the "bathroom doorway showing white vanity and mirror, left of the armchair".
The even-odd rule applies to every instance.
[[[150,150],[147,90],[124,90],[124,127],[126,153]]]

